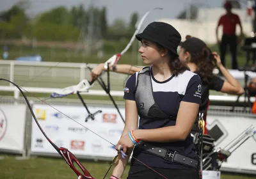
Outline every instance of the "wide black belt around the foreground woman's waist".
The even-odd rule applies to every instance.
[[[168,160],[170,162],[176,162],[178,164],[183,164],[184,166],[193,167],[198,170],[199,160],[192,159],[191,157],[186,157],[178,152],[171,152],[166,148],[152,146],[151,144],[140,141],[136,146],[142,148],[143,150],[150,152],[158,157]]]

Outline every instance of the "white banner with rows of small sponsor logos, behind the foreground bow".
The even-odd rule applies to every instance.
[[[102,113],[96,114],[95,120],[89,119],[86,122],[88,113],[83,106],[53,105],[53,107],[58,111],[49,105],[33,105],[36,118],[53,143],[68,148],[74,155],[95,157],[116,155],[116,150],[110,143],[118,142],[124,122],[115,108],[89,107],[90,113],[98,110]],[[120,109],[120,112],[124,116],[124,109]],[[34,120],[32,120],[31,152],[56,153]]]

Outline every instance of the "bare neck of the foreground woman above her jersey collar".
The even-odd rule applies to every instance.
[[[172,76],[168,63],[157,63],[152,65],[152,72],[157,81],[165,81]]]

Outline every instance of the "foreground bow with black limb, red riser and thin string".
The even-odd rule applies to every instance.
[[[89,171],[87,171],[85,169],[85,167],[83,166],[83,164],[81,164],[81,162],[79,162],[79,160],[76,158],[76,156],[70,152],[67,148],[63,148],[63,147],[58,147],[56,144],[54,144],[51,139],[49,139],[49,137],[45,134],[44,130],[42,129],[42,127],[40,126],[34,112],[33,112],[33,109],[31,107],[31,105],[29,104],[29,101],[28,101],[28,98],[26,97],[26,95],[24,94],[24,92],[22,91],[22,89],[24,91],[26,91],[26,89],[18,86],[17,84],[15,84],[14,82],[12,81],[9,81],[8,79],[0,79],[0,80],[3,80],[3,81],[7,81],[7,82],[10,82],[12,83],[15,87],[17,87],[20,91],[20,93],[22,94],[22,96],[24,97],[24,99],[26,100],[26,103],[28,104],[28,107],[29,107],[29,111],[31,112],[32,116],[33,116],[33,119],[35,120],[36,122],[36,125],[38,126],[38,128],[41,130],[42,134],[44,135],[44,137],[47,139],[47,141],[49,141],[49,143],[53,146],[53,148],[55,148],[55,150],[61,155],[61,157],[63,157],[63,159],[67,162],[68,166],[76,173],[76,175],[78,176],[78,179],[86,179],[86,178],[90,178],[90,179],[95,179],[93,178],[93,176],[89,173]],[[26,91],[28,92],[28,91]],[[34,96],[34,95],[33,95]],[[35,96],[34,96],[35,97]],[[38,97],[35,97],[35,98],[38,98]],[[45,102],[44,100],[41,100],[40,98],[38,98],[40,101],[44,102],[45,104],[51,106],[53,109],[55,109],[56,111],[60,112],[61,114],[67,116],[67,118],[75,121],[77,124],[81,125],[82,127],[86,128],[87,130],[89,130],[90,132],[92,132],[93,134],[99,136],[101,139],[103,139],[104,141],[108,142],[109,144],[115,146],[115,144],[111,143],[110,141],[108,141],[107,139],[105,139],[104,137],[100,136],[99,134],[97,134],[96,132],[93,132],[92,130],[90,130],[90,128],[87,128],[85,127],[84,125],[82,125],[81,123],[77,122],[76,120],[70,118],[70,116],[68,116],[67,114],[65,113],[62,113],[60,110],[56,109],[55,107],[53,107],[52,105],[48,104],[47,102]],[[127,155],[125,155],[124,152],[122,152],[122,150],[120,151],[121,155],[122,155],[122,158],[124,157],[127,157]],[[119,155],[119,153],[118,153]],[[111,164],[111,166],[113,166],[113,163],[116,162],[116,159],[118,159],[118,155],[116,155],[114,158],[113,158],[113,162]],[[135,160],[137,160],[138,162],[140,162],[141,164],[143,164],[144,166],[148,167],[149,169],[151,169],[152,171],[156,172],[158,175],[162,176],[163,178],[166,178],[165,176],[161,175],[161,173],[158,173],[156,170],[152,169],[152,167],[149,167],[147,166],[146,164],[144,164],[143,162],[141,162],[140,160],[136,159],[135,157],[133,157],[131,155],[131,157]],[[83,171],[83,173],[80,173],[76,167],[74,166],[74,162],[76,162],[76,164],[79,166],[79,168]],[[109,169],[111,168],[111,166],[109,167]],[[109,171],[108,169],[108,171]],[[108,174],[108,171],[106,173],[106,175]],[[104,176],[104,178],[106,177],[106,175]],[[104,179],[103,178],[103,179]],[[166,178],[168,179],[168,178]]]

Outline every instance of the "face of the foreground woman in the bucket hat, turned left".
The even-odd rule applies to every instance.
[[[145,65],[152,65],[161,60],[161,52],[154,42],[150,42],[149,40],[142,39],[141,47],[139,49],[141,54],[141,58],[143,59],[143,63]]]

